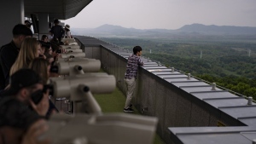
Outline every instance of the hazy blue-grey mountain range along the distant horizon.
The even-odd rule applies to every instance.
[[[246,35],[256,36],[256,27],[247,26],[205,26],[192,24],[183,26],[177,30],[167,29],[135,29],[122,26],[103,25],[96,28],[73,28],[73,35],[86,35],[94,37],[172,37],[174,35]]]

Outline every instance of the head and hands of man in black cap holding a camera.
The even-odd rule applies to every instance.
[[[0,92],[0,101],[5,97],[15,97],[45,116],[49,109],[49,92],[43,92],[43,80],[38,73],[31,69],[20,69],[9,80],[9,87]]]

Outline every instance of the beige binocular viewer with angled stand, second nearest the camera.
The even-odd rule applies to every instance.
[[[93,94],[111,93],[115,89],[116,80],[112,75],[86,73],[66,78],[51,79],[51,95],[55,98],[66,97],[73,101],[73,112],[97,113],[101,107]]]

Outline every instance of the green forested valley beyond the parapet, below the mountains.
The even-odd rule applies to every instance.
[[[101,37],[132,51],[140,45],[143,56],[162,65],[191,73],[256,100],[256,41],[252,37],[204,39]],[[151,51],[151,53],[150,53]]]

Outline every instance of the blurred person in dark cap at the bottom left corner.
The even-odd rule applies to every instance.
[[[24,103],[12,97],[0,101],[0,144],[48,144],[49,139],[38,138],[48,128],[44,118]]]

